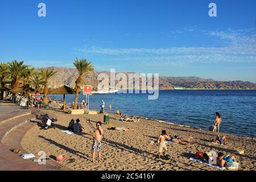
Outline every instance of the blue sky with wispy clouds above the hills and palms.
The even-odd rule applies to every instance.
[[[46,3],[46,17],[38,4]],[[209,17],[208,5],[217,5]],[[0,2],[0,61],[256,82],[256,1]]]

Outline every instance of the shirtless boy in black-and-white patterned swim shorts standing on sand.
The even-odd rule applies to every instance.
[[[93,158],[93,163],[95,162],[95,152],[98,152],[98,161],[102,162],[101,160],[101,139],[103,136],[103,130],[101,128],[101,122],[98,121],[96,122],[96,130],[95,134],[93,135],[93,146],[92,146],[92,158]]]

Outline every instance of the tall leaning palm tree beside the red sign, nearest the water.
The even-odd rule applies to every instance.
[[[82,77],[84,75],[86,75],[87,73],[90,73],[91,71],[94,70],[94,66],[92,65],[92,62],[87,62],[86,59],[81,59],[78,60],[76,57],[76,60],[73,63],[77,69],[77,71],[79,72],[79,77],[76,79],[76,96],[75,96],[75,103],[74,103],[74,109],[78,109],[77,108],[77,100],[79,97],[79,91],[81,89],[81,84],[82,82],[84,82],[84,80],[82,80]]]

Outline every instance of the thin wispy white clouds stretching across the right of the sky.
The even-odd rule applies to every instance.
[[[185,27],[174,31],[181,34],[196,31],[196,27]],[[223,47],[172,47],[172,48],[101,48],[75,49],[85,55],[114,56],[116,60],[167,61],[168,63],[252,63],[256,62],[256,31],[254,29],[228,31],[201,31],[203,35],[218,38]],[[122,56],[122,57],[116,57]],[[112,59],[112,60],[113,60]]]

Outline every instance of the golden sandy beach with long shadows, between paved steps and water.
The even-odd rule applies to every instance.
[[[53,111],[48,110],[50,117]],[[65,159],[58,162],[65,167],[74,170],[218,170],[205,164],[200,164],[189,160],[196,151],[216,151],[224,154],[236,155],[239,170],[255,170],[256,162],[256,140],[253,138],[236,137],[226,135],[228,144],[220,146],[210,143],[211,137],[216,138],[216,133],[172,125],[166,122],[141,119],[138,123],[125,122],[119,120],[117,114],[110,115],[110,125],[103,124],[104,140],[102,141],[102,160],[92,164],[92,142],[90,134],[93,129],[90,127],[88,119],[95,127],[96,121],[103,122],[104,114],[97,115],[71,115],[62,112],[55,113],[58,118],[55,129],[40,130],[39,126],[32,127],[27,131],[22,139],[22,147],[27,152],[35,155],[39,151],[45,151],[47,156],[65,155],[67,159],[75,159],[75,162],[68,163]],[[66,134],[69,121],[74,118],[81,120],[81,125],[86,132],[83,134]],[[32,122],[40,122],[35,120]],[[122,132],[107,130],[108,127],[118,126],[136,129],[135,132]],[[168,135],[179,135],[183,139],[193,142],[191,146],[181,144],[167,144],[170,160],[157,159],[158,147],[155,142],[161,131],[166,130]],[[238,154],[237,150],[244,150],[244,154]],[[53,160],[53,159],[51,159]]]

